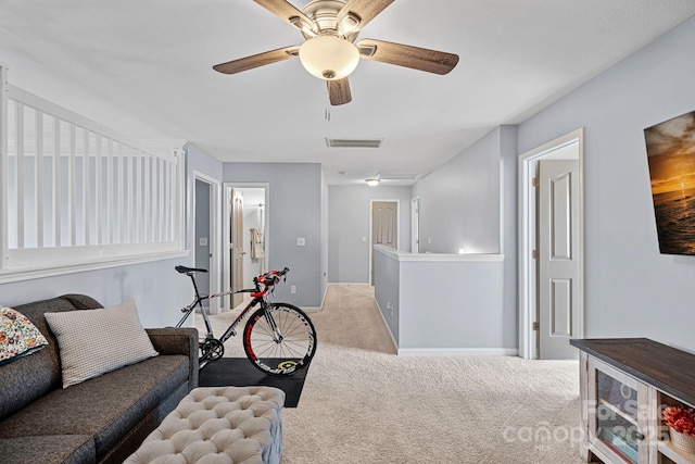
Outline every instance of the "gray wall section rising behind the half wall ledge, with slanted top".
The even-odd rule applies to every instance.
[[[500,252],[501,134],[497,127],[413,187],[420,252]]]

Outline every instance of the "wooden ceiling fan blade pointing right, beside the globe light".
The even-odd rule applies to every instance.
[[[396,66],[434,74],[446,74],[458,63],[458,55],[383,40],[364,39],[356,43],[361,57]]]

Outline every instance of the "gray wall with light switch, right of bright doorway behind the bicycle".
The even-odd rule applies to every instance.
[[[315,163],[224,163],[225,183],[268,183],[268,266],[290,267],[278,300],[303,308],[321,303],[321,167]],[[299,247],[298,238],[306,244]],[[290,285],[296,294],[290,294]]]

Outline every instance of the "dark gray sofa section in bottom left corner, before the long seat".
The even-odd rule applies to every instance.
[[[2,462],[12,464],[81,464],[96,462],[89,435],[0,438]]]

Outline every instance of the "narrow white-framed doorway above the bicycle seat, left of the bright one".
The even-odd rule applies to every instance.
[[[201,294],[219,291],[219,181],[194,172],[193,222],[191,225],[194,267],[207,269],[207,274],[198,274],[195,281]],[[219,302],[208,300],[211,314],[219,312]]]

